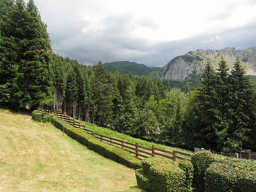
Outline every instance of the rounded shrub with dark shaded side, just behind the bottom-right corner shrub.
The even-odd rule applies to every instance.
[[[196,192],[205,192],[205,173],[206,169],[212,164],[212,163],[222,163],[224,161],[227,161],[227,158],[225,158],[222,155],[215,155],[212,154],[208,150],[203,150],[198,153],[195,153],[192,155],[191,162],[194,166],[194,178],[193,178],[193,184],[192,186],[195,188]]]

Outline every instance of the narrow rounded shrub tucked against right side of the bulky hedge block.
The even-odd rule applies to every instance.
[[[192,182],[193,182],[193,174],[194,174],[194,167],[190,161],[179,161],[178,167],[184,170],[186,173],[186,183],[187,191],[192,191]]]

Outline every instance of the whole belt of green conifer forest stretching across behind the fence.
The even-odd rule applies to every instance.
[[[86,66],[53,53],[33,0],[0,5],[1,106],[54,106],[170,145],[256,150],[255,87],[238,59],[231,70],[223,59],[218,69],[208,61],[200,77],[193,73],[183,83],[110,73],[100,61]]]

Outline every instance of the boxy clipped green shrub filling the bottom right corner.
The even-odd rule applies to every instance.
[[[256,191],[255,161],[211,164],[206,170],[206,191]]]

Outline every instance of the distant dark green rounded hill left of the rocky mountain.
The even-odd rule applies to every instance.
[[[106,69],[110,72],[121,72],[124,74],[135,74],[138,76],[150,76],[156,77],[160,67],[151,67],[143,64],[137,64],[129,61],[116,61],[111,63],[105,63]]]

